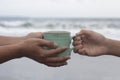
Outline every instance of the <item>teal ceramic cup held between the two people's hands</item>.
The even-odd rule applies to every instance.
[[[44,32],[44,39],[57,43],[58,48],[67,46],[68,49],[66,51],[58,54],[58,56],[70,56],[71,51],[72,51],[70,49],[70,44],[71,44],[71,34],[70,34],[70,32],[67,32],[67,31],[48,31],[48,32]]]

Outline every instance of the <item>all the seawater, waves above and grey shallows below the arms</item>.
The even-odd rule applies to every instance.
[[[70,31],[71,36],[81,29],[97,31],[120,40],[120,19],[76,18],[1,18],[1,36],[23,36],[30,32]],[[28,58],[0,64],[0,80],[120,80],[120,58],[115,56],[87,57],[72,52],[68,65],[47,67]]]

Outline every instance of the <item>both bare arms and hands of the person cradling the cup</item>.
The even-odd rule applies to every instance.
[[[42,37],[42,33],[30,33],[19,38],[2,37],[5,40],[3,39],[3,42],[0,41],[2,44],[0,46],[0,63],[16,58],[28,57],[50,67],[66,65],[70,57],[57,57],[57,55],[65,51],[67,47],[57,48],[56,43],[41,39]],[[9,40],[8,43],[6,39]],[[46,50],[44,47],[51,48],[51,50]]]

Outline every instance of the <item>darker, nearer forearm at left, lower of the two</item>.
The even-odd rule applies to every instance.
[[[17,45],[0,46],[0,63],[21,57]]]

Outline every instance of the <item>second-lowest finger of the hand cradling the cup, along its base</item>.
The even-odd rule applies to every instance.
[[[46,63],[58,63],[58,62],[65,62],[70,59],[70,56],[66,57],[51,57],[51,58],[44,58],[43,62]]]

